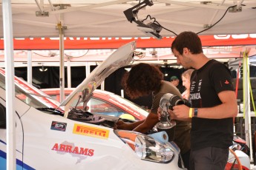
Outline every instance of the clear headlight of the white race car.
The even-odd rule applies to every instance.
[[[165,143],[138,132],[114,130],[115,134],[127,143],[142,160],[157,163],[169,163],[174,158],[174,151]]]

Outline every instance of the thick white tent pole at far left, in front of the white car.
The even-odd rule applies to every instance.
[[[10,1],[2,1],[4,28],[5,95],[7,111],[7,169],[16,169],[15,90],[13,68],[13,18]]]

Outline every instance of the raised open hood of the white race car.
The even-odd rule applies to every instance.
[[[70,95],[68,95],[68,98],[60,104],[60,106],[65,106],[65,118],[68,116],[70,104],[74,101],[82,100],[85,109],[94,89],[102,84],[102,81],[104,81],[108,75],[111,75],[112,72],[116,71],[116,69],[130,64],[133,60],[135,49],[136,42],[131,41],[130,43],[119,47],[119,49],[113,52],[107,59],[105,59],[105,61],[99,64],[98,67],[93,69],[90,75],[88,75],[88,77],[85,78],[85,80],[82,81]]]

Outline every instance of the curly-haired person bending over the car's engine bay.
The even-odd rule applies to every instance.
[[[134,123],[125,123],[119,120],[116,123],[116,129],[132,130],[147,134],[159,122],[157,109],[160,106],[160,99],[163,95],[171,93],[182,98],[177,87],[169,81],[163,81],[163,72],[151,64],[140,63],[131,67],[131,70],[125,72],[122,78],[122,87],[125,94],[131,99],[152,94],[153,101],[151,110],[145,120]],[[190,153],[190,130],[191,125],[189,122],[176,121],[174,142],[180,147],[180,153],[186,168],[188,168]]]

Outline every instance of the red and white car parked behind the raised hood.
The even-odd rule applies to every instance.
[[[41,89],[51,98],[59,101],[59,88]],[[65,97],[73,92],[74,88],[65,89]],[[73,103],[76,106],[76,103]],[[113,92],[101,89],[95,89],[92,93],[91,100],[87,103],[88,112],[102,115],[111,115],[118,118],[128,118],[131,120],[144,120],[148,112],[137,104],[122,98]],[[82,102],[77,104],[78,108],[82,107]]]

